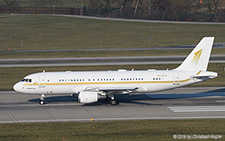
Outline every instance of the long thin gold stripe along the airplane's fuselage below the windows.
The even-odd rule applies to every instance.
[[[181,83],[187,82],[190,79],[180,80]],[[138,82],[79,82],[79,83],[45,83],[45,85],[85,85],[85,84],[140,84],[140,83],[173,83],[173,82],[179,82],[179,81],[138,81]],[[35,85],[44,85],[44,83],[33,83],[33,84],[24,84],[29,86],[35,86]]]

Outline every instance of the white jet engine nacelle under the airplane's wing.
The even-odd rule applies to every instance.
[[[80,103],[93,103],[98,101],[97,92],[79,92],[78,101]]]

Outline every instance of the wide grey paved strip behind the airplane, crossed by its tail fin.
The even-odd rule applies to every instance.
[[[186,56],[85,57],[0,59],[0,67],[179,64]],[[225,63],[225,55],[211,55],[210,63]]]

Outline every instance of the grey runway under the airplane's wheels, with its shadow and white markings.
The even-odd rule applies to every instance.
[[[143,119],[225,118],[225,87],[186,87],[142,95],[116,95],[111,106],[105,100],[82,105],[69,95],[46,96],[14,91],[0,92],[0,123],[107,121]]]

